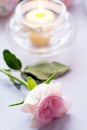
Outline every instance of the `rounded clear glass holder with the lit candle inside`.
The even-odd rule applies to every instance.
[[[34,56],[52,56],[72,43],[75,27],[61,1],[25,0],[10,19],[7,34],[19,50]]]

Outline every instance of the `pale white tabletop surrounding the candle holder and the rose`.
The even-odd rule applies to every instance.
[[[72,108],[64,118],[55,120],[41,130],[87,130],[87,15],[83,1],[75,1],[71,13],[77,24],[77,34],[72,46],[63,54],[48,61],[60,61],[71,65],[71,71],[57,79],[63,84],[63,93],[72,100]],[[2,51],[10,49],[10,44],[5,33],[8,19],[0,19],[0,68],[6,68]],[[17,56],[23,61],[23,66],[33,64],[40,58],[26,57],[20,52]],[[29,127],[29,115],[20,111],[18,107],[8,107],[9,104],[24,99],[26,90],[18,91],[8,78],[0,73],[0,130],[32,130]]]

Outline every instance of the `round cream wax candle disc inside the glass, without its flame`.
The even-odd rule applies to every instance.
[[[41,12],[38,9],[35,9],[29,11],[26,14],[25,18],[28,22],[40,25],[53,21],[55,19],[55,15],[52,11],[48,9],[44,9]]]

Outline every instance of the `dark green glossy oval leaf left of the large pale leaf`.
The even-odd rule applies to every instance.
[[[22,68],[21,61],[10,51],[4,50],[3,57],[9,68],[14,70],[20,70]]]

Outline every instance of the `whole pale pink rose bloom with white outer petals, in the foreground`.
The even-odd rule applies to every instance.
[[[61,84],[40,84],[27,95],[22,111],[32,113],[32,128],[41,128],[54,118],[62,117],[71,102],[61,93]]]

